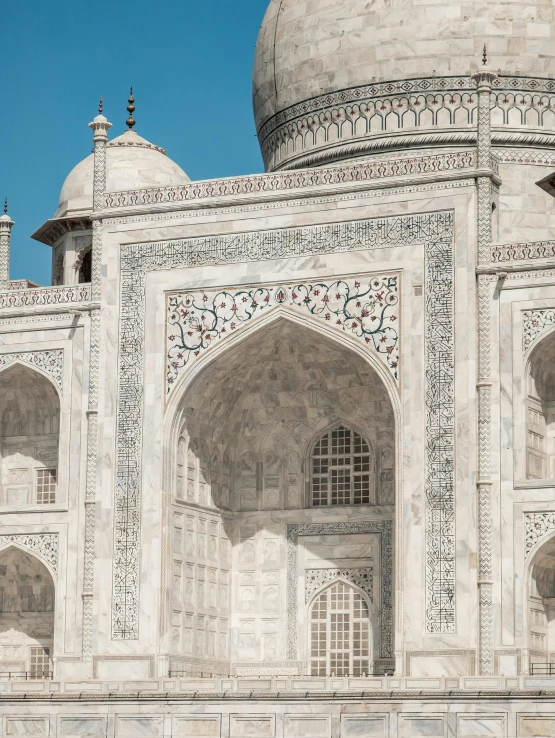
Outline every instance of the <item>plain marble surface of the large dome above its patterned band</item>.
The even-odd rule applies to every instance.
[[[268,136],[295,112],[325,108],[326,96],[345,91],[349,102],[354,88],[379,82],[468,77],[484,44],[492,70],[547,78],[555,75],[554,39],[553,0],[271,0],[253,74],[267,168],[292,161],[292,152],[276,158]]]

